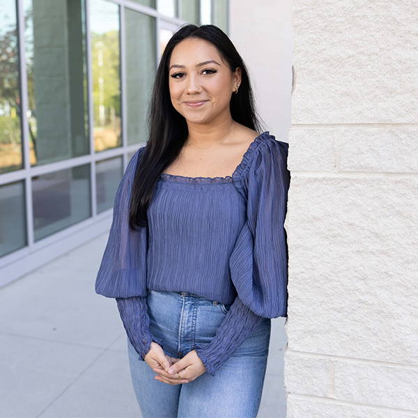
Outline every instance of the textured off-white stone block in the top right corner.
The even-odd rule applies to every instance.
[[[417,123],[418,2],[295,0],[292,124]]]

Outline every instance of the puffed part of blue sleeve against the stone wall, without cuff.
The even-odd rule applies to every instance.
[[[245,306],[265,318],[287,315],[287,155],[288,144],[263,142],[238,184],[247,222],[229,259],[231,279]]]

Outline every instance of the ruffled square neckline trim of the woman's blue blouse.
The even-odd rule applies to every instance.
[[[171,181],[174,183],[195,183],[195,184],[222,184],[222,183],[232,183],[241,178],[242,174],[245,171],[245,168],[248,165],[248,162],[251,160],[252,155],[254,154],[256,148],[259,144],[267,138],[271,138],[270,132],[265,131],[262,134],[259,134],[254,141],[249,144],[249,147],[242,156],[240,164],[235,168],[232,176],[225,177],[187,177],[187,176],[178,176],[177,174],[168,174],[162,173],[160,178],[164,181]]]

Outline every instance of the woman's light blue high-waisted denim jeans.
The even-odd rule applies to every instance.
[[[186,292],[148,291],[150,332],[164,353],[184,357],[195,343],[209,343],[230,306]],[[271,320],[265,318],[217,370],[192,382],[169,385],[138,359],[128,340],[134,391],[144,418],[255,418],[267,366]]]

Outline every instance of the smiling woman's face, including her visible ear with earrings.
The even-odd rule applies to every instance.
[[[241,82],[210,42],[188,38],[171,53],[169,87],[174,109],[187,123],[217,125],[231,118],[229,102]]]

